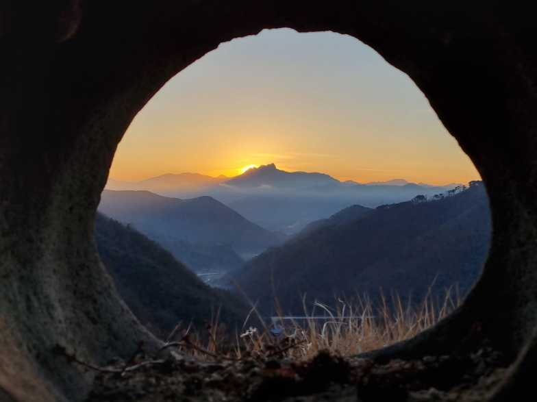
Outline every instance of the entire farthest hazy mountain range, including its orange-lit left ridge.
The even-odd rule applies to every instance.
[[[443,193],[455,186],[414,184],[404,179],[360,184],[325,173],[282,171],[275,164],[267,164],[232,178],[182,173],[130,184],[109,181],[107,188],[149,190],[180,198],[208,195],[264,229],[297,234],[308,223],[328,218],[350,205],[375,208],[408,201],[418,194]]]

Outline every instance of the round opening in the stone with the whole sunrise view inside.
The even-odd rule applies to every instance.
[[[171,79],[127,129],[99,212],[101,260],[155,334],[328,331],[305,357],[434,325],[491,233],[479,173],[410,78],[351,36],[291,29]]]

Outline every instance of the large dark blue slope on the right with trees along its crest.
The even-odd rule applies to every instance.
[[[268,314],[273,289],[285,312],[301,313],[301,294],[333,303],[334,294],[374,297],[382,288],[419,299],[432,284],[434,291],[458,284],[464,293],[479,275],[491,231],[483,186],[358,212],[317,223],[255,257],[234,279]]]

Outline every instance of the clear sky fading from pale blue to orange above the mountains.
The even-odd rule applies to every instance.
[[[351,36],[291,29],[225,42],[168,81],[127,129],[110,177],[269,163],[359,182],[479,179],[407,75]]]

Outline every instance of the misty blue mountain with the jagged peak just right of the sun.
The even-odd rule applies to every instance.
[[[274,164],[251,169],[227,181],[226,186],[237,188],[238,192],[249,191],[227,205],[253,223],[286,234],[296,234],[308,223],[327,218],[349,205],[376,207],[448,190],[403,179],[371,184],[341,182],[322,173],[280,171]]]

